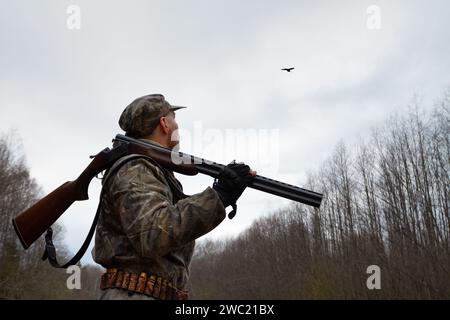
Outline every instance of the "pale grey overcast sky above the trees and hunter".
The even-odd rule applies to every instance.
[[[80,29],[68,27],[70,5]],[[301,186],[339,140],[367,136],[414,94],[431,108],[450,85],[449,16],[448,1],[2,1],[0,130],[17,132],[48,193],[122,133],[126,105],[162,93],[188,106],[177,112],[183,151]],[[256,144],[233,142],[239,130]],[[188,194],[212,184],[178,177]],[[61,219],[72,250],[99,191],[96,180]],[[206,237],[287,203],[248,190]]]

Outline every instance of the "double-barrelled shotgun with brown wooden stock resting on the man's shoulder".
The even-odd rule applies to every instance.
[[[33,244],[75,201],[89,199],[88,187],[91,180],[119,158],[129,154],[148,156],[168,170],[190,176],[202,173],[217,178],[225,167],[223,164],[164,148],[148,140],[118,134],[113,140],[112,149],[105,148],[96,156],[91,156],[93,160],[77,179],[63,183],[13,218],[14,230],[23,247],[27,249]],[[248,187],[313,207],[320,207],[322,201],[320,193],[259,175],[255,176]]]

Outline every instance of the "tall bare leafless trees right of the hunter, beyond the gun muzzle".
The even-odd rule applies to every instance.
[[[309,187],[320,210],[292,204],[237,238],[203,242],[197,299],[449,299],[450,92],[417,105],[354,148],[339,144]],[[369,290],[368,266],[381,289]]]

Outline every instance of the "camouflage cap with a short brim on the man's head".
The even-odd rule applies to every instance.
[[[128,136],[143,137],[155,130],[161,117],[181,108],[186,107],[171,105],[162,94],[149,94],[135,99],[123,110],[119,126]]]

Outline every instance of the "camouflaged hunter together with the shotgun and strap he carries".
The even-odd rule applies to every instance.
[[[94,260],[107,269],[104,299],[187,299],[189,263],[198,237],[213,230],[246,187],[319,208],[323,194],[256,175],[243,163],[222,165],[178,152],[175,111],[162,95],[147,95],[123,111],[116,135],[81,174],[12,219],[24,249],[45,234],[43,260],[55,268],[80,261],[96,233]],[[180,160],[182,160],[180,162]],[[187,161],[186,161],[187,160]],[[75,202],[88,200],[90,182],[105,171],[100,202],[83,245],[66,263],[56,258],[51,226]],[[215,179],[191,197],[173,171]],[[97,227],[97,228],[96,228]]]

